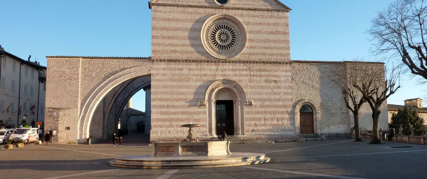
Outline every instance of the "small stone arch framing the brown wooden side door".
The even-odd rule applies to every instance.
[[[301,134],[301,130],[300,130],[300,118],[299,118],[299,110],[301,108],[301,106],[303,105],[309,105],[311,107],[311,109],[313,110],[313,128],[314,128],[314,133],[317,134],[319,129],[318,129],[318,123],[320,120],[320,111],[319,111],[319,105],[316,104],[315,102],[313,102],[312,100],[309,99],[301,99],[296,101],[295,103],[295,107],[294,107],[294,118],[295,118],[295,134],[300,135]]]

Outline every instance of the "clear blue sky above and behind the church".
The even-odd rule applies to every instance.
[[[392,1],[281,0],[292,9],[291,59],[374,61],[366,30]],[[48,55],[151,56],[148,0],[2,0],[0,6],[0,45],[44,66]],[[388,103],[424,97],[427,85],[417,79],[402,75],[401,88]],[[145,111],[144,101],[141,90],[132,98],[133,108]]]

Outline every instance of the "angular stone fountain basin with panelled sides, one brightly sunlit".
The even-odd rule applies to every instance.
[[[215,156],[227,155],[230,141],[161,141],[153,143],[153,156]]]

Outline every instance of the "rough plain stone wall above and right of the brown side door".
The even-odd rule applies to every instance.
[[[314,115],[315,133],[350,133],[348,108],[344,96],[338,87],[330,84],[330,75],[335,68],[342,67],[336,63],[294,62],[292,63],[292,96],[296,103],[306,99],[316,108]],[[310,105],[309,104],[309,105]],[[313,108],[313,106],[312,106]],[[299,120],[299,109],[292,109]],[[299,133],[299,129],[296,129]]]

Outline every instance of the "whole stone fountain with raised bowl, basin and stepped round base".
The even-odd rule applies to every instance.
[[[200,124],[183,124],[188,127],[187,139],[182,141],[153,142],[153,153],[136,156],[120,156],[110,165],[132,168],[205,168],[251,165],[269,162],[263,153],[230,152],[230,141],[199,141],[194,138],[193,128]]]

